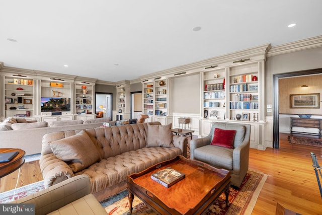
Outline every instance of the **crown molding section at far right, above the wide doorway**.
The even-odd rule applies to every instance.
[[[302,51],[311,48],[317,48],[322,46],[322,36],[311,37],[304,40],[299,40],[283,45],[273,46],[268,52],[267,57],[272,57],[280,54],[287,54],[296,51]]]

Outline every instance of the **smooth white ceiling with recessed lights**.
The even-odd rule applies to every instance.
[[[321,8],[321,0],[1,0],[0,61],[134,80],[266,43],[320,36]],[[287,28],[291,23],[297,25]],[[197,26],[201,30],[193,31]]]

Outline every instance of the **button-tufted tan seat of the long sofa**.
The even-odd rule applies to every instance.
[[[87,169],[75,173],[86,174],[91,180],[91,192],[96,193],[127,180],[127,175],[138,173],[146,168],[182,155],[179,148],[149,147],[129,151],[102,159]]]

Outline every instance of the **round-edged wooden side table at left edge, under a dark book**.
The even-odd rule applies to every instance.
[[[21,149],[0,149],[0,153],[16,152],[16,151],[18,151],[19,154],[16,155],[11,161],[6,163],[0,163],[0,178],[16,171],[25,163],[25,159],[24,159],[25,151]]]

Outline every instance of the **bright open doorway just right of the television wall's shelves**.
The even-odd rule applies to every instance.
[[[112,94],[111,93],[95,93],[95,112],[103,111],[103,117],[112,119]]]

